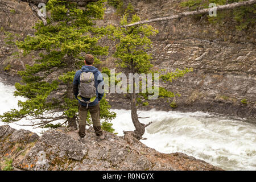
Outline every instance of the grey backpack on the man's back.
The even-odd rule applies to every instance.
[[[82,97],[84,98],[90,98],[89,101],[82,100]],[[77,95],[77,98],[81,102],[87,103],[93,102],[96,99],[96,88],[94,85],[94,75],[92,72],[82,72],[80,75],[80,85],[79,85],[79,94]],[[86,108],[87,108],[86,107]]]

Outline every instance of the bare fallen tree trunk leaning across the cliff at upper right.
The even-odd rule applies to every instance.
[[[166,17],[163,17],[163,18],[143,20],[143,21],[140,21],[140,22],[127,24],[127,25],[124,25],[122,27],[131,27],[131,26],[135,26],[135,25],[139,25],[139,24],[146,24],[146,23],[151,23],[151,22],[161,22],[161,21],[166,21],[166,20],[171,20],[171,19],[178,19],[178,18],[180,19],[180,18],[183,18],[185,16],[208,13],[209,11],[212,11],[214,8],[216,8],[216,10],[231,10],[231,9],[235,9],[236,7],[249,6],[249,5],[253,5],[255,3],[256,3],[256,0],[243,1],[243,2],[238,2],[238,3],[231,3],[231,4],[228,4],[228,5],[221,5],[221,6],[217,6],[217,7],[208,8],[208,9],[201,9],[201,10],[197,10],[197,11],[187,11],[187,12],[183,12],[183,13],[180,13],[180,14],[177,14],[177,15],[166,16]]]

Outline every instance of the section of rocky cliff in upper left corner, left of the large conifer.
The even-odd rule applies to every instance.
[[[26,64],[33,64],[35,59],[32,55],[23,57],[14,42],[33,35],[32,26],[39,18],[28,2],[1,0],[0,19],[0,74],[14,84],[20,80],[16,73],[23,70]]]

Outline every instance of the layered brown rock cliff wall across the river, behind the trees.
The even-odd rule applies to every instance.
[[[15,39],[23,39],[27,34],[33,33],[30,27],[39,18],[31,10],[28,2],[2,1],[11,8],[7,14],[0,11],[0,24],[3,27],[0,32],[0,73],[10,82],[8,76],[13,77],[16,71],[24,69],[24,64],[32,64],[35,56],[17,56],[18,49],[6,44],[4,31],[20,35]],[[36,1],[31,2],[37,6]],[[179,6],[182,2],[180,0],[124,2],[131,2],[141,19],[159,18],[186,11]],[[117,25],[119,16],[116,10],[112,6],[106,7],[105,18],[98,24]],[[177,104],[176,110],[201,110],[240,117],[256,117],[256,52],[253,27],[247,31],[237,31],[236,23],[232,19],[221,25],[213,25],[205,18],[199,20],[195,17],[151,24],[159,30],[159,34],[152,38],[153,45],[149,51],[154,57],[155,67],[166,71],[184,67],[194,69],[192,73],[179,80],[160,84],[181,94],[181,97],[174,99]],[[113,53],[113,42],[102,40],[101,43],[112,47],[110,53]],[[105,65],[113,68],[113,57],[106,57]],[[16,78],[14,81],[18,80],[19,78]],[[108,97],[113,107],[129,109],[126,101],[118,95],[111,94]],[[242,99],[247,101],[246,104],[242,104]],[[172,100],[151,101],[144,109],[154,107],[174,110],[170,107],[170,102]]]

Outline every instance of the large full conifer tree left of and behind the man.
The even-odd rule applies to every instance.
[[[98,40],[106,34],[105,28],[95,26],[94,20],[104,16],[104,0],[78,7],[71,1],[49,0],[47,24],[36,23],[35,35],[27,36],[17,46],[24,55],[39,51],[40,59],[26,70],[20,71],[22,84],[16,83],[14,96],[23,96],[20,110],[12,109],[0,116],[3,122],[31,119],[33,125],[46,126],[52,121],[64,119],[69,126],[77,127],[77,100],[73,97],[72,81],[75,72],[84,65],[84,53],[96,57],[108,55],[108,47],[98,46]],[[100,104],[101,118],[115,117],[110,105],[103,98]]]

